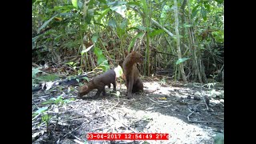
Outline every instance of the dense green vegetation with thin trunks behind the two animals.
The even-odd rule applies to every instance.
[[[34,0],[32,61],[54,73],[118,66],[140,51],[143,75],[183,82],[222,79],[223,0]],[[59,66],[62,66],[60,68]]]

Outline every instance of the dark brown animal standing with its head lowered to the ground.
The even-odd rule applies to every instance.
[[[91,90],[97,89],[97,93],[94,95],[98,97],[101,93],[106,96],[105,86],[110,88],[110,83],[114,86],[114,91],[116,91],[116,74],[114,70],[108,70],[105,73],[98,75],[93,80],[88,82],[87,85],[78,88],[78,97],[88,94]]]

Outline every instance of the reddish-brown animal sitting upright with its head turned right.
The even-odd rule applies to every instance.
[[[139,72],[135,64],[143,62],[142,54],[132,51],[128,54],[122,63],[122,70],[125,76],[128,98],[131,98],[132,93],[143,91],[142,80],[138,77]]]

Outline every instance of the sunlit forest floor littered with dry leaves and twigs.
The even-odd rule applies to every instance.
[[[163,78],[163,77],[162,77]],[[68,87],[32,95],[33,111],[49,106],[51,115],[48,130],[38,114],[32,122],[33,143],[214,143],[218,133],[224,133],[224,86],[214,87],[198,83],[183,85],[166,77],[142,78],[150,94],[133,94],[126,98],[126,87],[118,83],[120,95],[110,94],[113,86],[106,86],[106,97],[78,98],[78,91]],[[93,96],[96,90],[88,94]],[[74,98],[63,106],[42,105],[50,98]],[[209,100],[209,101],[208,101]],[[208,105],[206,104],[209,102]],[[58,117],[57,117],[58,116]],[[58,123],[58,124],[57,124]],[[56,125],[57,124],[57,125]],[[164,133],[169,140],[144,141],[88,141],[87,133]]]

